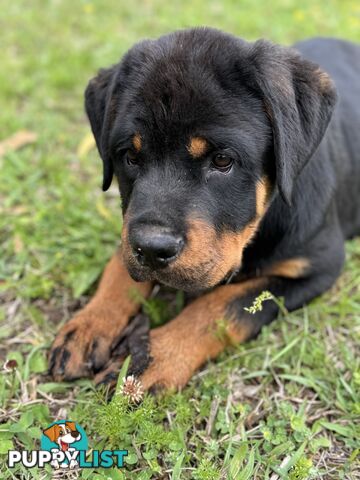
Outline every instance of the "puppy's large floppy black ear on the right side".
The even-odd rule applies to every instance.
[[[336,90],[327,73],[291,48],[259,40],[250,56],[272,125],[277,185],[291,204],[294,181],[329,124]]]

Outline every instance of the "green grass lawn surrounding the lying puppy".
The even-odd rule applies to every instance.
[[[7,2],[0,14],[1,139],[37,140],[0,158],[0,476],[9,448],[39,448],[58,418],[82,425],[93,448],[128,449],[122,471],[94,479],[360,478],[360,242],[347,244],[336,286],[205,366],[181,393],[134,407],[87,380],[53,383],[46,354],[83,305],[120,237],[116,189],[100,191],[83,90],[136,40],[207,24],[285,44],[311,35],[360,40],[354,0]],[[181,302],[181,297],[177,302]],[[171,307],[147,305],[154,323]]]

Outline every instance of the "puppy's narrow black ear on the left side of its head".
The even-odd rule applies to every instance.
[[[96,145],[103,161],[103,185],[107,190],[113,177],[113,166],[107,147],[107,133],[111,120],[111,97],[115,83],[116,66],[102,69],[90,80],[85,90],[85,110],[90,121]]]

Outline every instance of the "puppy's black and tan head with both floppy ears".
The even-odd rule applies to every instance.
[[[239,268],[275,195],[291,203],[336,93],[290,48],[199,28],[135,45],[85,99],[130,274],[203,289]]]

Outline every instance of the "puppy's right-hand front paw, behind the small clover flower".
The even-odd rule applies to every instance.
[[[190,332],[183,320],[179,316],[150,332],[142,323],[140,328],[133,327],[119,343],[117,354],[112,355],[106,367],[95,376],[95,382],[111,390],[117,383],[124,358],[130,354],[127,376],[133,375],[139,380],[143,390],[157,392],[184,387],[194,372],[208,358],[216,356],[223,345],[208,329]],[[127,327],[130,328],[131,325]]]

